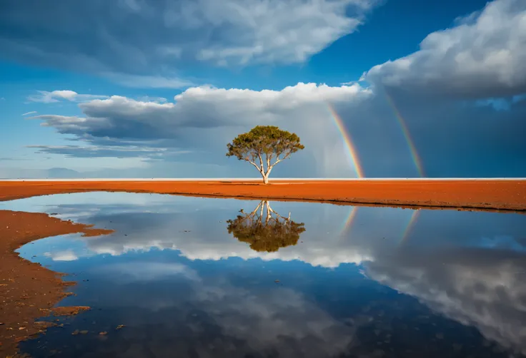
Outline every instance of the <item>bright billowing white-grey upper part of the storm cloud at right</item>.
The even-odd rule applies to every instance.
[[[525,44],[525,1],[496,0],[427,35],[419,51],[374,66],[364,79],[455,98],[513,96],[526,92]]]

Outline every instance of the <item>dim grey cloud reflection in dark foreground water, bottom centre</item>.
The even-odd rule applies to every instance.
[[[104,349],[118,353],[127,342],[134,342],[135,347],[114,357],[145,357],[148,352],[162,357],[196,357],[192,354],[196,349],[198,357],[334,357],[345,352],[356,337],[358,324],[342,322],[288,287],[247,288],[222,273],[212,277],[178,275],[170,281],[159,275],[154,279],[157,282],[129,282],[114,275],[115,270],[131,269],[143,277],[140,271],[152,272],[154,267],[157,272],[156,265],[134,262],[130,267],[105,265],[97,270],[98,285],[104,289],[94,296],[86,295],[93,300],[87,304],[116,312],[112,313],[118,319],[115,323],[126,322],[123,334],[113,335]],[[177,267],[177,273],[192,272],[183,266]],[[147,333],[141,329],[145,322]],[[169,354],[159,354],[163,350]],[[64,353],[67,355],[67,350]],[[89,349],[77,348],[73,353],[89,357]]]

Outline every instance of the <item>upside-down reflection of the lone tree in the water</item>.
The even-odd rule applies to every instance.
[[[305,231],[304,223],[294,223],[276,213],[268,200],[262,200],[252,213],[237,215],[234,220],[227,220],[228,232],[237,240],[250,244],[252,250],[275,252],[280,247],[296,245],[299,235]]]

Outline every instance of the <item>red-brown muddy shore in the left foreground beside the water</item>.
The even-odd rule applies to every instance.
[[[94,229],[41,213],[0,210],[0,357],[16,356],[18,342],[49,327],[49,322],[35,322],[38,317],[86,310],[86,307],[54,309],[59,300],[69,295],[64,290],[71,282],[62,281],[61,275],[14,252],[33,240],[77,232],[96,236],[109,234],[111,230]]]

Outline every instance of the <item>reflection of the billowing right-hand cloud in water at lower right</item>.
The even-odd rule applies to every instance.
[[[404,250],[368,262],[372,280],[412,295],[435,312],[477,327],[526,354],[526,255],[502,249]]]

